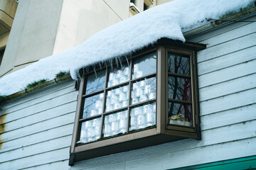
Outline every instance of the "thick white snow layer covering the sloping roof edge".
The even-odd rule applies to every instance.
[[[150,8],[92,35],[77,47],[7,74],[0,79],[0,95],[21,91],[32,81],[54,79],[60,71],[70,71],[73,79],[78,79],[80,68],[131,55],[160,38],[185,42],[182,32],[206,24],[206,18],[219,18],[227,12],[239,11],[253,1],[176,0]]]

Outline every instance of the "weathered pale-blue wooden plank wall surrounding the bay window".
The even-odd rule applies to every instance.
[[[256,17],[247,18],[256,21]],[[187,38],[198,52],[202,140],[98,157],[68,166],[74,81],[4,103],[0,169],[172,169],[256,154],[256,23],[238,22]]]

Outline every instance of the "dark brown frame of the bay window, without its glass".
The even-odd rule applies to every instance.
[[[129,81],[125,81],[122,84],[118,84],[116,86],[107,87],[107,68],[106,69],[106,77],[105,77],[105,89],[100,91],[93,92],[92,94],[83,94],[84,84],[85,84],[85,75],[90,74],[93,71],[91,69],[90,72],[86,72],[83,74],[84,70],[81,69],[82,79],[80,81],[80,89],[78,93],[78,104],[77,111],[75,114],[75,124],[73,130],[73,139],[70,147],[70,166],[74,164],[74,162],[78,162],[85,159],[90,159],[94,157],[101,157],[107,154],[114,154],[118,152],[124,152],[132,149],[139,149],[142,147],[149,147],[152,145],[159,145],[164,142],[171,142],[176,140],[182,140],[186,138],[194,138],[197,140],[201,140],[201,130],[200,130],[200,119],[199,119],[199,100],[198,100],[198,74],[197,74],[197,63],[196,63],[196,52],[198,50],[203,50],[206,48],[206,45],[202,45],[194,42],[186,42],[182,43],[179,41],[169,40],[163,38],[158,40],[155,45],[151,45],[146,47],[139,52],[134,53],[132,57],[129,57],[129,65],[130,65],[130,78]],[[146,53],[156,51],[156,72],[153,74],[148,74],[144,77],[139,77],[137,79],[132,79],[132,62],[137,57],[140,57]],[[185,127],[179,125],[168,125],[168,71],[167,71],[167,58],[168,52],[174,52],[176,54],[187,55],[190,57],[191,64],[191,91],[192,91],[192,108],[193,108],[193,127]],[[125,62],[125,61],[124,61]],[[135,81],[139,81],[144,78],[156,77],[156,98],[151,99],[150,101],[143,101],[140,103],[136,103],[134,105],[130,105],[131,103],[131,87],[132,83]],[[104,93],[104,103],[103,107],[105,108],[106,103],[106,95],[107,90],[117,88],[118,86],[122,86],[124,84],[129,84],[129,101],[127,108],[127,115],[130,114],[130,109],[135,106],[140,106],[144,103],[156,102],[156,125],[150,128],[144,128],[142,130],[133,130],[129,132],[129,116],[127,116],[127,132],[122,135],[114,135],[112,137],[102,138],[100,136],[99,140],[94,142],[88,142],[83,145],[75,145],[78,142],[78,137],[80,136],[80,122],[88,120],[90,118],[82,118],[80,114],[82,114],[82,98],[85,96],[92,96],[93,94]],[[166,95],[167,94],[167,95]],[[181,101],[183,102],[183,101]],[[101,115],[101,130],[100,134],[102,135],[102,127],[103,127],[103,115],[107,115],[109,113],[114,113],[115,111],[122,110],[124,108],[118,108],[117,110],[105,112]]]

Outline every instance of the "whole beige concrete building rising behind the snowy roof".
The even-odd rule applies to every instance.
[[[167,1],[1,0],[0,77],[75,47],[98,31]]]

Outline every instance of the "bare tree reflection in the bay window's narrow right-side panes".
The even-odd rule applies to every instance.
[[[177,55],[170,55],[168,61],[169,72],[174,72],[177,74],[190,74],[189,59],[186,57],[180,57]],[[180,77],[169,77],[169,98],[179,99],[182,101],[191,101],[191,80]],[[174,108],[178,106],[178,108]],[[171,103],[169,107],[168,115],[178,115],[181,114],[185,117],[186,121],[191,121],[191,113],[189,105],[182,103]]]

